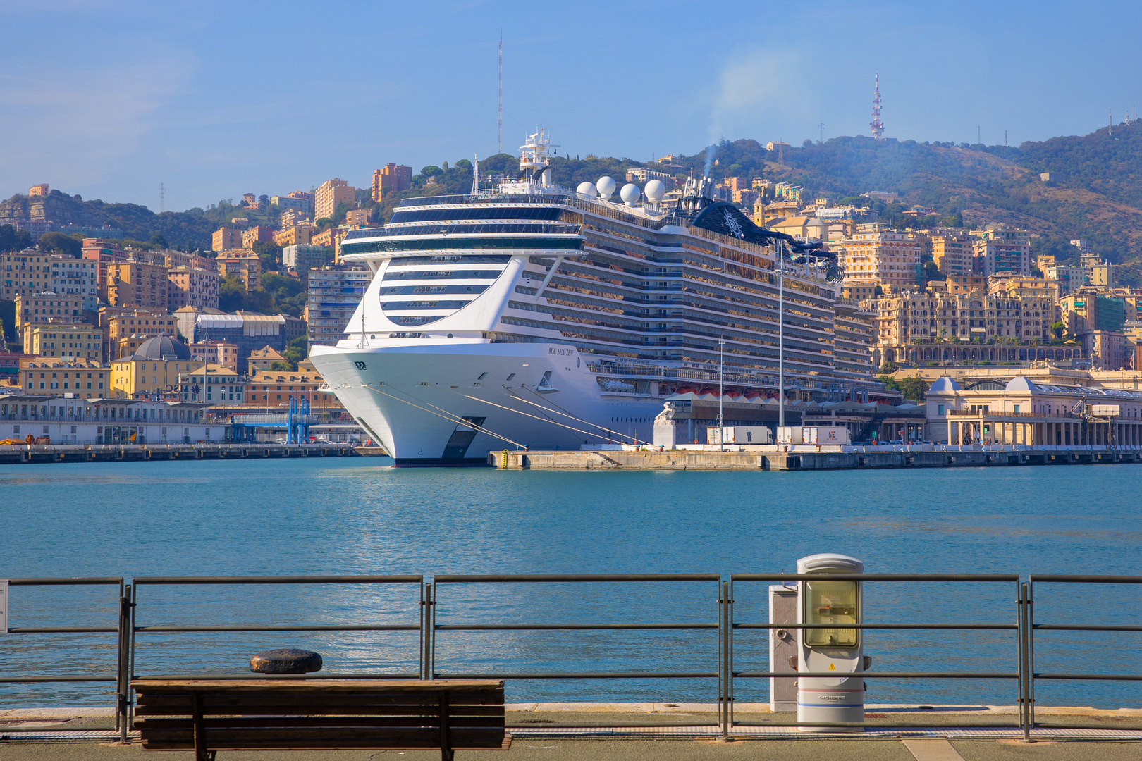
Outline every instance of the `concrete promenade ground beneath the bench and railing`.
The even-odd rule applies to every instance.
[[[753,737],[729,743],[710,739],[701,729],[691,731],[706,737],[679,738],[671,730],[628,729],[634,724],[715,724],[709,704],[626,703],[626,704],[513,704],[507,722],[516,724],[512,747],[502,751],[458,751],[458,761],[1119,761],[1142,758],[1142,711],[1105,711],[1089,707],[1042,709],[1044,723],[1084,724],[1101,731],[1078,730],[1064,735],[1039,730],[1042,739],[1024,744],[995,737],[988,727],[1018,723],[1011,706],[936,705],[925,707],[869,705],[867,726],[875,735],[852,738],[781,736],[774,723],[793,714],[773,714],[764,704],[740,704],[735,719],[738,732]],[[895,728],[903,724],[936,726],[935,731]],[[106,737],[83,732],[111,729],[110,709],[24,709],[0,711],[0,761],[192,761],[188,751],[156,753],[144,751],[136,740],[118,745]],[[750,727],[756,726],[757,728]],[[602,727],[601,736],[585,738],[558,727]],[[947,731],[942,728],[947,727]],[[984,728],[991,737],[965,737],[964,727]],[[79,734],[58,732],[61,729]],[[1099,737],[1105,730],[1134,730],[1131,739]],[[634,732],[649,732],[634,737]],[[47,737],[48,732],[57,732]],[[616,736],[616,734],[626,736]],[[552,736],[545,736],[550,734]],[[577,736],[578,735],[578,736]],[[1047,735],[1053,735],[1047,737]],[[1085,736],[1084,736],[1085,735]],[[1008,735],[1010,736],[1010,735]],[[220,752],[220,761],[437,761],[439,751],[325,751],[325,752]]]

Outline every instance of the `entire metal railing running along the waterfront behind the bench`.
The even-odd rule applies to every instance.
[[[716,682],[716,705],[717,723],[707,727],[723,737],[731,737],[737,727],[825,727],[825,728],[856,728],[868,724],[854,722],[798,722],[796,720],[785,720],[775,717],[774,721],[749,722],[741,721],[734,717],[734,701],[738,680],[746,682],[756,679],[797,679],[799,677],[836,677],[837,672],[811,673],[804,671],[780,672],[780,671],[754,671],[739,667],[739,659],[735,649],[753,645],[747,632],[769,631],[774,629],[837,629],[837,624],[796,624],[796,623],[757,623],[739,622],[735,620],[735,591],[739,585],[754,582],[797,582],[827,578],[829,581],[856,581],[863,583],[963,583],[963,584],[1014,584],[1015,594],[1011,599],[1012,617],[1007,621],[984,621],[974,623],[876,623],[860,621],[859,623],[844,624],[843,629],[854,629],[861,631],[994,631],[1013,632],[1015,643],[1012,655],[1014,656],[1014,667],[1002,671],[860,671],[856,672],[862,679],[880,680],[1014,680],[1016,683],[1018,723],[989,723],[992,728],[1019,729],[1024,739],[1030,739],[1032,730],[1042,729],[1105,729],[1102,723],[1046,723],[1040,722],[1035,717],[1035,688],[1037,680],[1055,681],[1117,681],[1117,682],[1140,682],[1142,673],[1079,673],[1079,672],[1037,672],[1035,671],[1035,635],[1037,632],[1070,631],[1070,632],[1142,632],[1139,624],[1091,624],[1091,623],[1035,623],[1034,615],[1034,586],[1035,584],[1142,584],[1142,576],[1093,576],[1093,575],[1031,575],[1027,582],[1021,582],[1016,574],[732,574],[730,581],[723,582],[719,574],[609,574],[609,575],[440,575],[426,583],[424,576],[419,575],[394,575],[394,576],[154,576],[137,577],[132,583],[124,585],[121,577],[91,577],[91,578],[13,578],[10,586],[85,586],[106,585],[119,586],[118,617],[113,624],[108,625],[80,625],[80,626],[9,626],[9,634],[17,637],[33,634],[115,634],[116,642],[116,667],[114,673],[81,673],[62,675],[7,675],[0,674],[0,685],[18,683],[113,683],[116,691],[115,728],[122,742],[127,739],[127,731],[130,726],[132,705],[130,697],[130,680],[137,678],[167,678],[167,679],[249,679],[248,672],[242,673],[180,673],[180,674],[137,674],[136,655],[139,647],[138,638],[147,638],[155,634],[200,634],[209,632],[416,632],[417,633],[417,670],[404,673],[396,672],[370,672],[370,673],[319,673],[313,675],[290,675],[289,679],[502,679],[515,680],[714,680]],[[703,606],[716,606],[717,620],[702,621],[698,617],[690,623],[670,622],[642,622],[642,623],[538,623],[538,622],[515,622],[515,623],[477,623],[469,621],[437,622],[437,612],[441,605],[449,606],[449,596],[442,594],[442,590],[451,585],[480,585],[480,584],[525,584],[525,585],[549,585],[549,584],[579,584],[606,589],[604,584],[644,584],[665,583],[670,584],[668,589],[676,589],[681,583],[717,584],[717,590],[710,596],[695,596],[692,601],[682,598],[682,609],[687,612],[699,612]],[[417,607],[416,616],[410,617],[409,623],[297,623],[297,624],[214,624],[180,625],[180,624],[143,624],[138,621],[140,586],[214,586],[214,585],[300,585],[300,584],[338,584],[338,585],[408,585],[416,584],[419,596],[416,597],[407,608],[393,607],[391,613],[401,610],[411,613],[410,608]],[[410,598],[413,596],[410,594]],[[867,597],[867,596],[866,596]],[[1004,596],[997,598],[1000,602]],[[160,607],[160,602],[154,604]],[[614,608],[612,608],[613,610]],[[629,609],[627,607],[626,609]],[[415,621],[415,623],[412,623]],[[713,669],[693,671],[561,671],[561,672],[525,672],[504,671],[493,673],[451,673],[439,672],[436,666],[437,649],[441,646],[439,634],[442,632],[518,632],[518,631],[595,631],[595,632],[652,632],[652,631],[709,631],[715,634],[715,642],[709,645],[698,643],[692,648],[687,645],[684,650],[687,656],[697,654],[699,657],[709,656],[713,661]],[[640,639],[641,645],[646,640]],[[766,642],[766,648],[767,648]],[[979,657],[979,653],[968,653],[967,657]],[[1006,658],[1004,655],[989,653],[996,658]],[[658,656],[654,655],[658,659]],[[275,677],[263,674],[259,678],[274,679]],[[558,729],[568,727],[589,727],[578,722],[576,724],[558,724],[544,722],[546,728]],[[521,724],[523,726],[523,724]],[[611,724],[608,724],[611,726]],[[694,721],[686,723],[630,723],[622,722],[628,727],[695,727]],[[944,723],[899,723],[893,722],[893,728],[938,728],[947,727]],[[67,728],[64,728],[67,729]],[[77,730],[90,730],[91,727],[77,727]],[[55,730],[53,730],[55,731]]]

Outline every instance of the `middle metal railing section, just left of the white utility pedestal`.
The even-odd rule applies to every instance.
[[[716,604],[718,608],[718,621],[710,623],[513,623],[513,624],[476,624],[476,623],[450,623],[437,624],[436,612],[440,605],[439,590],[444,584],[628,584],[628,583],[715,583],[721,589],[722,577],[719,574],[562,574],[562,575],[444,575],[433,578],[431,596],[428,598],[429,626],[426,632],[432,632],[432,642],[428,646],[428,678],[429,679],[504,679],[504,680],[548,680],[548,679],[716,679],[717,702],[724,703],[725,685],[724,673],[718,666],[710,671],[640,671],[640,672],[531,672],[531,673],[437,673],[436,672],[436,632],[442,631],[661,631],[661,630],[716,630],[716,653],[715,664],[723,661],[722,648],[725,638],[722,635],[724,616],[721,612],[724,608],[722,597],[715,590],[715,594],[707,601]],[[561,727],[589,727],[590,724],[557,724],[546,723],[545,728],[558,729]],[[632,727],[692,727],[689,723],[629,723]],[[508,724],[510,728],[512,724]]]

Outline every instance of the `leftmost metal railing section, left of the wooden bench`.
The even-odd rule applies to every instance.
[[[128,702],[129,677],[124,667],[123,654],[127,653],[130,634],[130,615],[121,576],[88,576],[74,578],[9,578],[8,586],[118,586],[119,598],[114,601],[116,612],[114,625],[106,626],[8,626],[9,634],[115,634],[115,673],[105,674],[67,674],[57,677],[7,677],[0,674],[0,685],[27,683],[114,683],[115,685],[115,729],[120,737],[126,738],[127,724],[123,722],[124,707]],[[9,602],[10,610],[10,602]],[[61,731],[83,731],[90,727],[59,727]],[[56,731],[55,729],[53,731]]]

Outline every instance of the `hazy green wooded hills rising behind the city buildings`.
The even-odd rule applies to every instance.
[[[1024,143],[1018,148],[837,137],[823,143],[806,140],[783,149],[780,163],[777,159],[757,140],[722,140],[693,155],[676,156],[668,171],[700,175],[708,163],[715,178],[788,181],[804,186],[806,199],[841,200],[868,191],[895,191],[901,204],[874,204],[894,224],[916,224],[900,212],[923,204],[936,212],[922,224],[1019,226],[1037,234],[1037,252],[1055,253],[1063,260],[1077,256],[1077,249],[1067,242],[1083,237],[1095,252],[1124,265],[1124,282],[1142,285],[1142,123]],[[648,165],[632,159],[590,155],[555,156],[552,163],[555,181],[570,187],[603,175],[621,180],[628,169]],[[483,179],[514,176],[516,171],[516,157],[510,154],[480,162]],[[1040,172],[1051,172],[1051,180],[1043,181]],[[373,208],[376,218],[387,220],[402,199],[467,193],[471,188],[472,162],[463,159],[453,165],[423,168],[410,189],[389,193],[380,203],[369,201],[367,191],[360,191],[357,197]],[[226,201],[207,209],[155,214],[136,204],[83,201],[58,191],[46,199],[16,195],[0,203],[0,225],[10,224],[16,216],[116,227],[138,241],[161,235],[177,248],[203,249],[210,246],[210,234],[232,217],[276,222],[266,212],[247,212]]]

